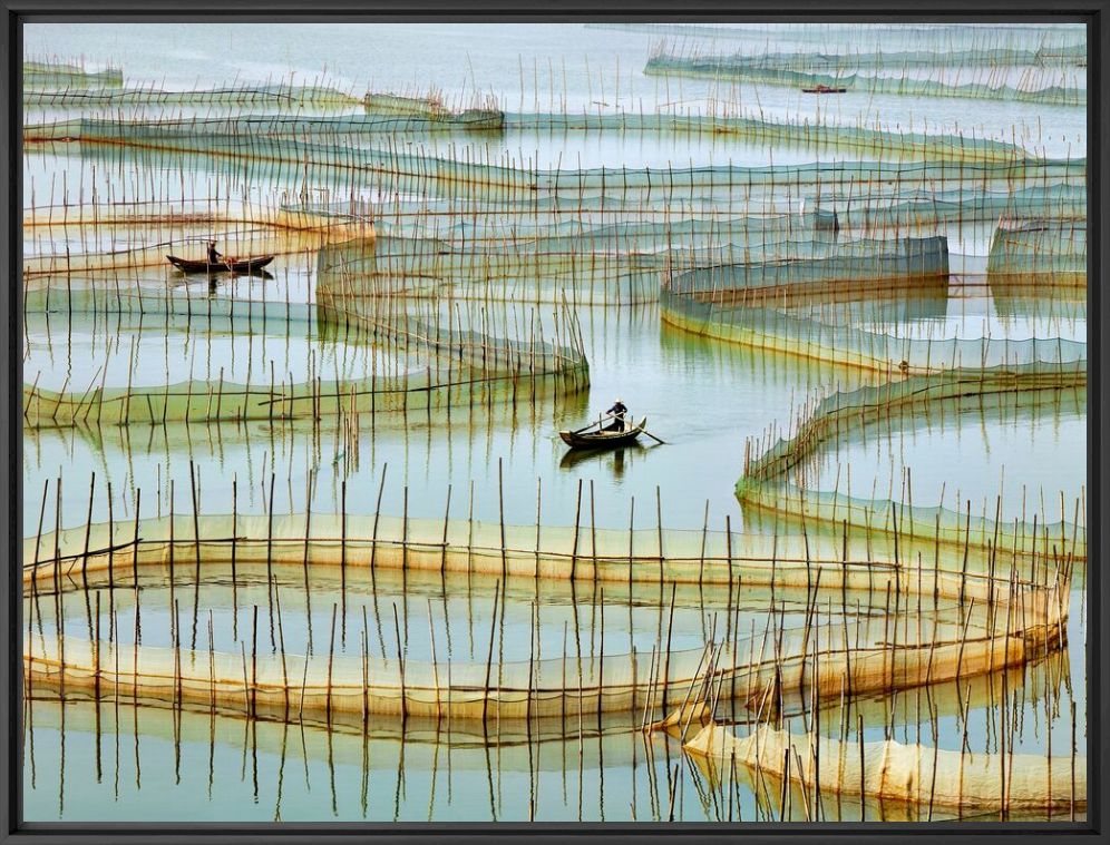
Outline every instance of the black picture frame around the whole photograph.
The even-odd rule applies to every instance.
[[[6,570],[0,579],[3,623],[0,625],[0,842],[2,843],[94,843],[158,842],[181,843],[310,843],[310,842],[478,842],[484,837],[542,838],[562,842],[574,837],[582,843],[636,843],[673,837],[691,843],[715,843],[742,838],[757,843],[818,843],[863,838],[895,843],[909,839],[950,839],[961,845],[994,842],[1025,843],[1051,834],[1058,842],[1107,841],[1104,808],[1110,807],[1110,779],[1101,776],[1101,764],[1110,758],[1110,626],[1102,625],[1110,611],[1110,579],[1100,570],[1102,519],[1110,502],[1110,473],[1102,444],[1110,439],[1104,402],[1110,362],[1101,342],[1101,328],[1110,325],[1102,245],[1110,243],[1110,223],[1102,210],[1110,203],[1110,0],[688,0],[676,8],[663,0],[564,0],[528,8],[519,0],[0,0],[0,45],[4,80],[2,97],[2,145],[6,176],[0,180],[0,254],[7,269],[0,311],[6,326],[6,362],[0,367],[0,394],[6,399],[0,414],[0,441],[6,460],[0,464],[0,512],[6,521]],[[1088,818],[1083,823],[778,823],[728,824],[558,824],[558,823],[279,823],[269,825],[226,823],[60,824],[23,823],[21,819],[21,731],[17,701],[21,694],[21,579],[18,577],[20,549],[21,466],[21,27],[47,21],[266,21],[306,20],[381,21],[490,21],[517,22],[585,20],[643,20],[652,22],[717,22],[760,20],[770,22],[990,22],[1081,21],[1088,27],[1088,179],[1089,238],[1088,320],[1088,576],[1089,601],[1085,649],[1088,713]],[[20,206],[16,204],[20,203]]]

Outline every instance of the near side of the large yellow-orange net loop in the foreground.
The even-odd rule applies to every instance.
[[[272,563],[273,564],[273,563]],[[111,687],[125,696],[196,705],[243,702],[273,713],[295,702],[318,716],[333,711],[485,719],[576,714],[664,713],[694,690],[717,689],[717,698],[739,698],[756,710],[782,706],[786,698],[819,700],[888,691],[1021,666],[1062,645],[1064,617],[1058,588],[1011,593],[1004,603],[958,606],[916,615],[895,613],[893,630],[868,618],[833,618],[710,643],[702,649],[602,650],[527,661],[415,661],[337,655],[294,656],[284,650],[250,656],[80,640],[71,636],[25,639],[25,670],[36,686]],[[919,608],[918,608],[919,609]],[[906,608],[903,608],[905,611]],[[604,611],[603,611],[604,612]],[[602,622],[604,625],[604,621]],[[768,626],[770,618],[768,619]],[[99,626],[99,622],[97,622]],[[255,635],[256,636],[256,635]],[[893,641],[892,641],[893,639]],[[758,648],[757,648],[758,643]],[[680,698],[681,696],[681,698]]]

